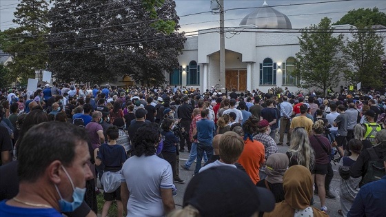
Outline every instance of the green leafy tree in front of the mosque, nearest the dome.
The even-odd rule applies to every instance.
[[[334,28],[327,17],[301,32],[301,49],[296,53],[296,70],[292,75],[301,79],[299,87],[318,87],[325,94],[327,88],[338,85],[344,70],[343,60],[338,57],[343,35],[333,36]]]

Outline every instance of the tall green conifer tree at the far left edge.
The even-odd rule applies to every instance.
[[[48,33],[48,3],[44,0],[22,0],[14,12],[14,23],[18,28],[3,32],[0,39],[1,49],[13,56],[12,63],[7,65],[10,79],[20,79],[25,83],[34,77],[34,70],[45,69],[48,46],[45,34]]]

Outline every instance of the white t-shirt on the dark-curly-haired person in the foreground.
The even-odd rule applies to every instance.
[[[123,164],[121,182],[130,192],[127,216],[164,216],[161,188],[173,188],[170,163],[156,155],[132,156]]]

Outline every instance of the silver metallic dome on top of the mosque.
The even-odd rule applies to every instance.
[[[292,29],[290,19],[285,14],[268,6],[265,1],[262,7],[247,14],[240,25],[256,25],[259,29]]]

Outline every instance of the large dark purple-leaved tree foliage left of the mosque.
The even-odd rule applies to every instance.
[[[176,32],[174,1],[155,5],[157,19],[143,2],[57,0],[50,11],[49,69],[63,81],[130,74],[143,84],[164,83],[163,71],[178,67],[185,39]]]

